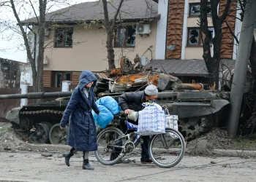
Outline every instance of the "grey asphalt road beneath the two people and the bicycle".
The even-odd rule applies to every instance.
[[[45,153],[44,153],[45,154]],[[42,157],[39,153],[0,152],[1,181],[255,181],[256,158],[241,157],[189,157],[169,169],[154,164],[135,162],[104,166],[97,162],[93,153],[89,159],[94,171],[82,170],[82,158],[78,153],[64,164],[61,154]]]

